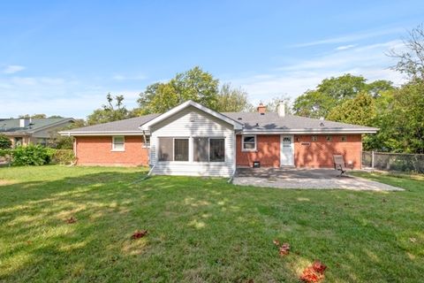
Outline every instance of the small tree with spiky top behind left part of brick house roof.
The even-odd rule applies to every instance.
[[[103,104],[102,108],[96,109],[93,113],[88,115],[88,125],[95,125],[131,118],[130,111],[127,111],[123,104],[124,96],[113,97],[109,93],[106,96],[106,100],[108,102],[107,104]]]

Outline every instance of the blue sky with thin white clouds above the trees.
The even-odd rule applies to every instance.
[[[253,103],[343,73],[405,78],[384,55],[424,21],[423,1],[3,1],[0,117],[85,118],[194,65]]]

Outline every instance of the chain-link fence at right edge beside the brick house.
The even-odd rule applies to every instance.
[[[424,173],[424,154],[363,151],[362,167],[384,171]]]

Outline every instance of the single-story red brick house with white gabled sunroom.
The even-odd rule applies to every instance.
[[[219,113],[187,101],[151,114],[63,135],[82,165],[151,165],[153,173],[230,176],[238,166],[329,168],[342,154],[360,168],[362,134],[377,129],[277,112]]]

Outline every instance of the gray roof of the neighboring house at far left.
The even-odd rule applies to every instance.
[[[20,126],[20,119],[0,119],[0,134],[34,134],[50,126],[74,121],[72,118],[31,119],[27,126]]]

